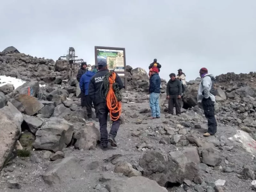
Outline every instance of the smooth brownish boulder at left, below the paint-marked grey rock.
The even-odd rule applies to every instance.
[[[44,107],[42,103],[38,101],[35,97],[19,94],[15,97],[25,108],[25,113],[29,116],[35,115],[40,109]]]

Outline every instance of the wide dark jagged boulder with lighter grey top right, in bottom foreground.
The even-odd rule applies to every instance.
[[[181,152],[174,152],[168,156],[169,161],[156,151],[146,153],[140,159],[139,165],[145,169],[143,176],[155,180],[160,186],[167,184],[181,184],[185,179],[193,180],[198,176],[197,165],[199,157],[194,149]]]

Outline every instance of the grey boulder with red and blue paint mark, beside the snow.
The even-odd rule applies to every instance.
[[[28,94],[28,88],[30,87],[30,96],[36,97],[40,89],[39,83],[37,81],[28,81],[23,85],[17,87],[15,91],[18,91],[20,94]]]

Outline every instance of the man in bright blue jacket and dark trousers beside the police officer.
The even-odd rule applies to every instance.
[[[96,68],[94,68],[96,69]],[[90,80],[92,78],[92,76],[94,76],[97,73],[97,69],[96,70],[92,70],[92,71],[86,71],[86,73],[84,73],[84,75],[81,76],[80,82],[79,82],[79,87],[81,89],[81,93],[84,94],[84,98],[85,98],[85,107],[86,107],[86,111],[87,111],[87,117],[88,120],[91,121],[92,120],[92,99],[90,98],[90,95],[88,93],[89,91],[89,83]],[[97,114],[97,108],[95,108],[95,113],[96,113],[96,118],[98,118],[98,114]]]

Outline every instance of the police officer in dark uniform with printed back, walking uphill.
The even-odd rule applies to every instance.
[[[112,147],[117,147],[116,145],[116,134],[120,126],[120,119],[113,121],[111,130],[108,135],[108,130],[107,130],[107,119],[108,119],[108,107],[107,107],[107,101],[105,98],[103,98],[100,94],[101,92],[101,85],[103,83],[103,77],[106,73],[108,73],[108,68],[107,68],[107,61],[102,60],[98,63],[98,69],[99,71],[92,76],[89,84],[89,95],[93,101],[93,103],[96,105],[96,108],[98,109],[98,117],[99,117],[99,122],[100,122],[100,142],[101,142],[101,147],[102,150],[107,150],[108,149],[108,142],[110,142],[110,145]],[[118,84],[119,89],[122,89],[123,82],[121,78],[116,74],[116,79],[115,82]],[[102,86],[104,88],[104,86]],[[103,90],[105,92],[105,90]]]

